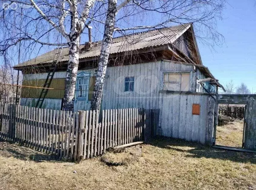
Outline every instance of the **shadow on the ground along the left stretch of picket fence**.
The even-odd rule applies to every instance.
[[[25,161],[35,161],[35,162],[43,162],[43,161],[64,162],[65,161],[63,159],[59,159],[55,155],[45,154],[33,148],[21,146],[17,143],[8,142],[5,140],[0,140],[0,156],[5,156],[5,157],[13,156],[14,158],[17,158],[17,159],[21,159]]]

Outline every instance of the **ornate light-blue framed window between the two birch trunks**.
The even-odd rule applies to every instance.
[[[76,80],[76,99],[87,100],[89,90],[89,73],[80,72]]]

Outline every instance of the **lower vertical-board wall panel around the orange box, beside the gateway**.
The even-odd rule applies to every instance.
[[[214,104],[209,95],[160,94],[158,134],[200,143],[212,143]],[[192,114],[192,105],[200,105],[200,115]]]

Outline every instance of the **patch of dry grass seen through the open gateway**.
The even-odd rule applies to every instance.
[[[244,122],[236,120],[231,124],[217,126],[216,144],[229,147],[242,147]]]

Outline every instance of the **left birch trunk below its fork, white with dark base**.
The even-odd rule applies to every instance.
[[[68,69],[66,72],[65,79],[65,92],[63,99],[63,110],[73,111],[74,110],[74,99],[75,99],[75,83],[78,71],[78,58],[79,58],[79,45],[80,36],[78,35],[75,39],[72,39],[69,43],[69,60]]]

